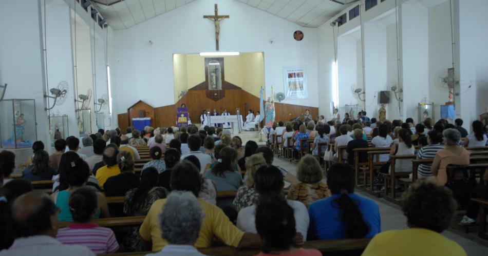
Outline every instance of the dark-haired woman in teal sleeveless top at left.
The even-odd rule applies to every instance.
[[[69,210],[69,197],[77,189],[86,186],[88,176],[90,175],[90,168],[85,161],[83,161],[81,158],[78,158],[76,160],[73,160],[69,164],[69,166],[65,169],[64,175],[66,178],[66,182],[69,185],[68,189],[52,193],[51,199],[54,204],[61,209],[61,212],[58,215],[59,221],[73,221],[73,216],[71,215],[71,212]],[[95,219],[107,218],[109,216],[109,213],[105,196],[99,192],[97,192],[96,194],[98,208],[95,214]]]

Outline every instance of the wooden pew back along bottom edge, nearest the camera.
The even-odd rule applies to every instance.
[[[317,249],[324,253],[325,255],[360,255],[366,246],[368,245],[370,239],[341,239],[341,240],[317,240],[317,241],[307,241],[304,243],[303,248],[307,249]],[[237,249],[230,246],[218,246],[218,247],[208,247],[199,248],[201,253],[205,255],[230,255],[230,256],[244,256],[244,255],[256,255],[261,250],[259,248],[253,249]],[[106,254],[107,256],[128,256],[128,255],[146,255],[151,253],[149,251],[145,252],[122,252],[122,253],[111,253]]]

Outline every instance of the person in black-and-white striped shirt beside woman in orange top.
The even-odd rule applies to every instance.
[[[442,133],[438,130],[431,130],[428,133],[427,142],[428,145],[423,146],[417,152],[417,159],[434,159],[437,151],[444,148],[442,145]],[[432,176],[430,171],[431,164],[421,164],[417,170],[417,176],[419,179],[425,179]]]

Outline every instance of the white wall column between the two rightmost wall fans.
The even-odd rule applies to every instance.
[[[428,9],[416,0],[404,3],[402,11],[403,113],[418,120],[418,103],[429,99]]]

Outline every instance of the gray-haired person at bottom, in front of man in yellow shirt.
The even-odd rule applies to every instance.
[[[189,191],[173,191],[159,214],[161,237],[168,242],[164,248],[150,256],[187,255],[202,256],[193,245],[203,223],[202,207]]]

